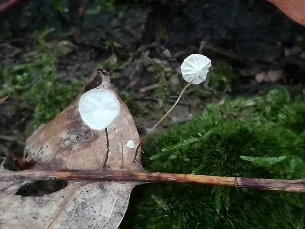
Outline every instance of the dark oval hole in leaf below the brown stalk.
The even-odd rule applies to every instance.
[[[43,196],[55,193],[68,185],[66,180],[53,179],[47,181],[35,181],[27,183],[16,192],[20,196]]]

